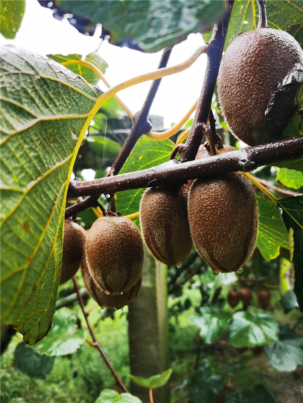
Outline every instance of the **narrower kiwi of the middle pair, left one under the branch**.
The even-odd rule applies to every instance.
[[[140,203],[140,224],[147,249],[168,266],[180,265],[192,241],[187,214],[188,186],[149,188]]]

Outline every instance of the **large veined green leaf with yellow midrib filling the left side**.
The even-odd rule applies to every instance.
[[[98,90],[11,45],[1,84],[1,327],[35,343],[55,312],[67,187]]]

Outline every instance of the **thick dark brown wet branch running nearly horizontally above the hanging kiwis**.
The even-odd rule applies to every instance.
[[[115,177],[88,182],[71,181],[69,196],[116,193],[151,186],[163,186],[173,182],[185,182],[189,179],[206,178],[225,172],[248,172],[259,166],[272,165],[302,157],[303,136],[297,136],[182,164],[171,160],[153,168]]]

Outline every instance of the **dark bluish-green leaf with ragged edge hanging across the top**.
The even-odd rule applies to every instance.
[[[191,32],[210,29],[227,4],[222,0],[54,0],[52,8],[54,17],[73,14],[73,26],[82,33],[92,33],[100,23],[102,37],[110,34],[112,44],[155,52],[181,42]]]

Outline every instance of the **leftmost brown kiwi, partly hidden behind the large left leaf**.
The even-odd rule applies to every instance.
[[[85,249],[85,242],[85,229],[73,221],[64,220],[60,284],[67,282],[77,273]]]

